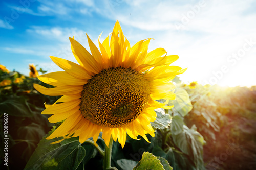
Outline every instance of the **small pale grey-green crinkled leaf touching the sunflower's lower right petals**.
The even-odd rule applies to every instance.
[[[155,109],[155,112],[157,113],[157,119],[154,122],[151,122],[151,126],[154,129],[165,129],[170,126],[172,117],[170,117],[169,114],[166,114],[163,108]]]

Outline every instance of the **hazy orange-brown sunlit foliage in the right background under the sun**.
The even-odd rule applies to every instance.
[[[193,110],[184,117],[204,137],[207,169],[256,168],[256,88],[185,87]]]

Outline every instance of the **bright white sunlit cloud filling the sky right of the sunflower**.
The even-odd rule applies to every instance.
[[[245,76],[243,85],[252,85],[252,81],[256,84],[251,78],[252,74],[255,77],[256,68],[248,68],[250,63],[256,63],[256,45],[236,65],[231,66],[227,61],[230,55],[243,48],[245,39],[256,41],[253,1],[205,0],[202,7],[199,2],[104,1],[95,11],[111,20],[118,19],[123,30],[140,29],[124,32],[129,40],[154,38],[151,50],[164,47],[168,55],[179,55],[174,65],[188,67],[181,75],[184,81],[209,81],[213,72],[227,65],[229,73],[218,79],[218,84],[238,85],[239,81],[233,79]],[[184,22],[184,18],[188,21]],[[183,27],[177,30],[175,23]],[[248,69],[251,74],[246,72]]]

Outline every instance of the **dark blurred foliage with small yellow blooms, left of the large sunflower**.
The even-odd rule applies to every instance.
[[[10,84],[0,86],[0,117],[2,120],[4,113],[8,114],[8,167],[23,169],[39,141],[53,126],[47,120],[48,115],[41,115],[44,103],[53,103],[58,98],[38,93],[33,83],[52,86],[40,83],[37,78],[0,70],[0,82],[5,80]],[[5,138],[3,123],[0,122],[0,136]],[[1,150],[0,154],[3,158],[5,153]]]

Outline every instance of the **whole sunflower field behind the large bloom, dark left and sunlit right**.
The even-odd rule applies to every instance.
[[[1,138],[8,139],[1,148],[8,149],[8,168],[102,169],[102,132],[97,146],[92,138],[80,143],[72,137],[57,144],[50,143],[59,138],[46,139],[62,122],[49,123],[50,116],[41,112],[44,103],[52,104],[60,96],[47,96],[33,87],[53,87],[33,77],[37,71],[45,73],[33,67],[29,77],[0,70]],[[147,135],[148,143],[127,136],[123,148],[113,142],[112,169],[255,169],[256,87],[186,85],[177,76],[173,82],[176,100],[167,105],[174,107],[155,110],[155,137]],[[1,150],[1,169],[7,167],[5,157]]]

